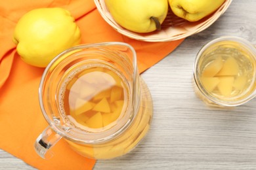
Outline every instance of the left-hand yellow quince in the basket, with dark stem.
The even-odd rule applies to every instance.
[[[161,29],[169,7],[167,0],[105,0],[105,3],[119,25],[137,33]]]

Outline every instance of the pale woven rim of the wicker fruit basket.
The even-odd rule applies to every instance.
[[[196,33],[199,33],[207,27],[209,27],[211,24],[213,24],[230,6],[232,3],[232,0],[226,0],[219,9],[217,9],[213,14],[208,16],[205,20],[200,20],[199,22],[194,23],[188,23],[187,25],[181,25],[179,27],[168,27],[161,31],[154,31],[152,33],[135,33],[132,31],[129,31],[123,27],[121,27],[119,24],[115,22],[115,20],[112,18],[110,12],[106,8],[106,5],[104,3],[104,0],[94,0],[96,8],[98,9],[98,12],[102,16],[102,18],[110,24],[116,31],[121,33],[122,35],[125,35],[131,39],[137,39],[139,41],[148,41],[148,42],[165,42],[165,41],[177,41],[180,39],[184,39],[186,37],[189,37],[190,35],[194,35]],[[190,25],[194,25],[192,29],[190,29]],[[188,26],[189,30],[186,30],[186,26]],[[182,29],[182,31],[179,31],[179,29]],[[174,35],[169,35],[168,33],[171,31],[176,31]],[[160,36],[161,35],[161,36]]]

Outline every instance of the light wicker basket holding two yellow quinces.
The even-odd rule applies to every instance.
[[[137,39],[140,41],[164,42],[183,39],[203,31],[213,24],[213,22],[215,22],[226,11],[226,9],[228,9],[231,2],[232,0],[226,0],[223,5],[219,7],[219,9],[213,12],[213,14],[198,22],[187,22],[186,20],[175,16],[169,10],[166,21],[164,21],[162,24],[163,29],[160,31],[153,31],[152,33],[135,33],[118,25],[106,8],[104,0],[95,0],[95,5],[102,18],[104,18],[104,20],[106,20],[106,22],[114,27],[114,29],[116,29],[119,33],[130,37],[131,39]]]

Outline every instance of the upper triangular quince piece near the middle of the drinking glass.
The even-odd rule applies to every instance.
[[[239,72],[239,65],[236,59],[229,57],[224,61],[223,67],[216,76],[236,76]]]

